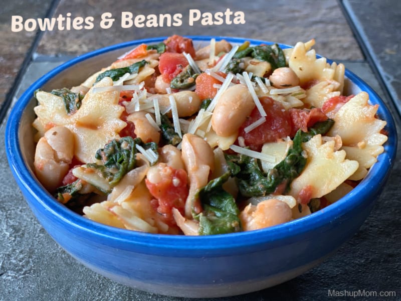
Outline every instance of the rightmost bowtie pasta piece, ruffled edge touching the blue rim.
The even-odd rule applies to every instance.
[[[378,105],[370,105],[368,100],[369,95],[360,92],[345,103],[334,115],[335,122],[328,135],[339,135],[343,145],[360,148],[387,141],[387,136],[380,133],[386,122],[375,117]]]

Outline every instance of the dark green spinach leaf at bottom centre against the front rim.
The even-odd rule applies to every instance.
[[[203,212],[195,216],[199,220],[199,235],[224,234],[241,231],[240,211],[234,197],[222,185],[229,179],[230,172],[216,178],[200,189],[198,197]]]

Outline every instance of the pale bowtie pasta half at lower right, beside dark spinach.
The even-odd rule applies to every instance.
[[[358,162],[345,159],[345,150],[334,151],[335,141],[323,143],[320,134],[303,143],[307,163],[303,172],[291,183],[290,194],[299,199],[305,187],[311,190],[310,198],[320,198],[348,179],[358,169]]]

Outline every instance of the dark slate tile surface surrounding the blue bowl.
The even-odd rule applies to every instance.
[[[0,103],[2,113],[38,77],[65,60],[100,47],[153,36],[224,35],[249,37],[295,44],[316,39],[317,53],[335,61],[364,79],[388,104],[399,131],[400,119],[400,2],[397,0],[279,0],[266,2],[212,1],[202,4],[165,1],[164,7],[151,0],[137,1],[44,1],[23,4],[8,2],[0,13]],[[164,9],[167,7],[168,9]],[[243,11],[244,25],[159,27],[121,29],[121,12],[133,14]],[[52,31],[12,33],[11,16],[44,18],[71,13],[93,16],[104,12],[116,16],[110,29],[90,31]],[[348,21],[348,22],[347,22]],[[101,38],[100,38],[101,37]],[[391,79],[391,80],[388,80]],[[4,145],[7,115],[0,127]],[[398,142],[400,140],[398,139]],[[395,291],[401,300],[401,204],[399,188],[401,165],[397,157],[394,170],[380,198],[354,237],[323,263],[283,284],[262,291],[220,298],[243,300],[321,300],[328,290]],[[0,300],[190,300],[138,291],[100,276],[84,267],[61,249],[45,232],[12,179],[5,149],[0,149]],[[330,297],[367,299],[367,297]],[[369,299],[380,299],[371,297]],[[206,299],[202,299],[206,300]]]

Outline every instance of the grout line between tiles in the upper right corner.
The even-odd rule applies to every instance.
[[[367,45],[368,43],[366,42],[367,38],[364,34],[362,26],[358,23],[357,18],[355,14],[352,12],[352,9],[349,5],[348,0],[337,0],[340,9],[343,12],[343,15],[348,23],[348,25],[351,28],[351,31],[353,35],[355,36],[355,39],[361,48],[361,51],[363,55],[366,58],[367,63],[369,64],[370,68],[373,71],[373,74],[375,78],[377,79],[383,93],[385,94],[385,97],[389,100],[389,104],[392,106],[394,111],[398,113],[398,116],[401,116],[401,109],[398,108],[395,105],[396,99],[393,98],[392,94],[390,93],[387,85],[385,84],[384,78],[382,76],[382,73],[380,72],[379,68],[377,67],[376,64],[374,64],[374,59],[373,59],[373,51]]]

